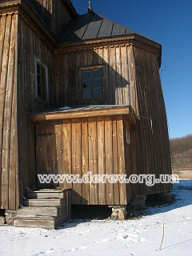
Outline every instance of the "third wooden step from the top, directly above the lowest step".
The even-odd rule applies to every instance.
[[[19,216],[52,216],[58,217],[57,207],[27,207],[24,206],[17,210]]]

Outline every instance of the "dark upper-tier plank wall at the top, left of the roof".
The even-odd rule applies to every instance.
[[[58,35],[70,21],[71,16],[62,2],[65,0],[30,0],[46,21],[50,30]]]

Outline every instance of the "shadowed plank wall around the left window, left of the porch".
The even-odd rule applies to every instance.
[[[48,69],[50,104],[46,106],[35,98],[35,57]],[[34,124],[29,113],[44,110],[54,102],[54,53],[45,38],[38,33],[24,14],[18,15],[18,169],[19,196],[26,187],[36,185]]]

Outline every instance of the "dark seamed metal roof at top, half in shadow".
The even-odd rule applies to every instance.
[[[75,42],[126,34],[136,33],[92,12],[72,19],[60,34],[59,40],[60,42]]]

